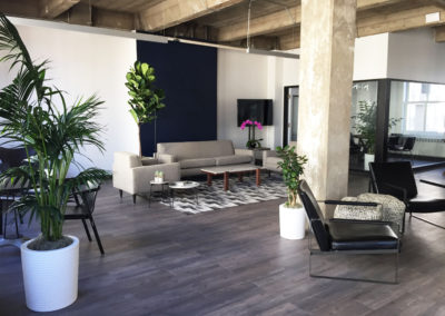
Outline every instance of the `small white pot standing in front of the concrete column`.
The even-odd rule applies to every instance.
[[[303,207],[288,208],[279,205],[279,234],[286,239],[303,239],[306,230],[306,214]]]

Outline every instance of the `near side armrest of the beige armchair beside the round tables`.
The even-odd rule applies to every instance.
[[[150,181],[155,179],[156,171],[162,171],[166,181],[178,181],[180,179],[178,162],[136,167],[131,169],[135,194],[149,191]]]

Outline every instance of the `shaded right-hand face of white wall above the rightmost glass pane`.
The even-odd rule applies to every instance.
[[[389,33],[387,78],[445,83],[445,43],[432,29]]]

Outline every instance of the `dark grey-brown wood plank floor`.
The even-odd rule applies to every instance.
[[[445,182],[442,170],[419,176]],[[445,230],[408,223],[398,285],[316,279],[308,276],[307,239],[279,237],[281,201],[184,215],[159,204],[149,209],[144,199],[134,206],[128,195],[120,201],[107,185],[95,214],[106,256],[80,221],[66,224],[81,241],[79,298],[53,314],[445,315]],[[445,214],[428,217],[445,224]],[[317,260],[327,274],[389,278],[393,271],[390,257]],[[0,248],[0,315],[31,314],[19,249]]]

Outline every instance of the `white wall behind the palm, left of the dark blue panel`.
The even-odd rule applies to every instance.
[[[128,112],[125,76],[136,60],[136,41],[108,36],[72,32],[49,28],[18,26],[32,59],[49,59],[47,78],[67,91],[68,103],[92,93],[105,101],[98,121],[105,126],[105,154],[85,148],[91,159],[77,157],[85,167],[111,169],[112,154],[117,150],[138,152],[137,126]],[[8,85],[12,75],[0,66],[0,87]]]

